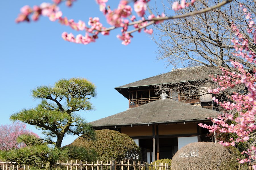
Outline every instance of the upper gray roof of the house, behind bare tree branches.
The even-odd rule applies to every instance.
[[[123,86],[116,87],[115,89],[202,80],[202,79],[208,79],[209,75],[213,75],[220,72],[221,70],[219,68],[206,67],[206,66],[175,69],[174,71],[149,77],[149,78],[145,78],[129,84],[125,84]]]

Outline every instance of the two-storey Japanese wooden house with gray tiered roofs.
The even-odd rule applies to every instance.
[[[209,75],[215,73],[216,69],[205,67],[193,67],[192,71],[177,69],[119,86],[115,89],[128,99],[129,108],[93,121],[91,125],[94,129],[114,129],[129,135],[141,147],[143,161],[172,159],[186,144],[209,141],[205,137],[208,130],[198,124],[210,124],[208,118],[219,112],[213,110],[212,96],[200,90],[194,89],[193,95],[186,95],[186,88],[183,88],[182,92],[162,93],[161,98],[155,93],[154,85],[177,86],[177,83],[197,81],[205,86]]]

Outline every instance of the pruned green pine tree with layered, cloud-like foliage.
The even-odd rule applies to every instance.
[[[32,90],[35,99],[41,99],[37,107],[22,109],[11,115],[11,120],[22,121],[42,130],[46,138],[41,141],[23,138],[30,149],[13,152],[7,159],[18,158],[19,153],[30,155],[19,162],[38,165],[45,161],[46,169],[51,167],[59,157],[68,155],[61,150],[61,143],[65,135],[77,135],[88,140],[94,139],[94,130],[80,115],[80,110],[92,110],[89,99],[96,96],[95,85],[85,78],[61,79],[54,86],[39,86]],[[34,142],[32,142],[34,141]],[[49,148],[51,144],[53,147]],[[22,155],[21,154],[21,155]],[[13,157],[12,157],[13,156]],[[17,161],[12,159],[12,161]],[[37,163],[37,164],[36,164]],[[44,164],[44,163],[43,163]],[[41,163],[40,163],[41,165]]]

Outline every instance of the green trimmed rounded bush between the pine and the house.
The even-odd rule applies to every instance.
[[[95,133],[96,140],[79,137],[70,145],[93,149],[98,160],[138,161],[140,148],[128,135],[109,129],[95,130]]]

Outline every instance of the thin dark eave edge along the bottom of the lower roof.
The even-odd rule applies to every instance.
[[[127,126],[143,126],[143,125],[160,125],[160,124],[181,124],[181,123],[202,123],[202,122],[210,122],[210,119],[192,119],[192,120],[183,120],[183,121],[166,121],[166,122],[154,122],[154,123],[136,123],[136,124],[118,124],[118,125],[91,125],[93,128],[103,128],[103,127],[127,127]]]

